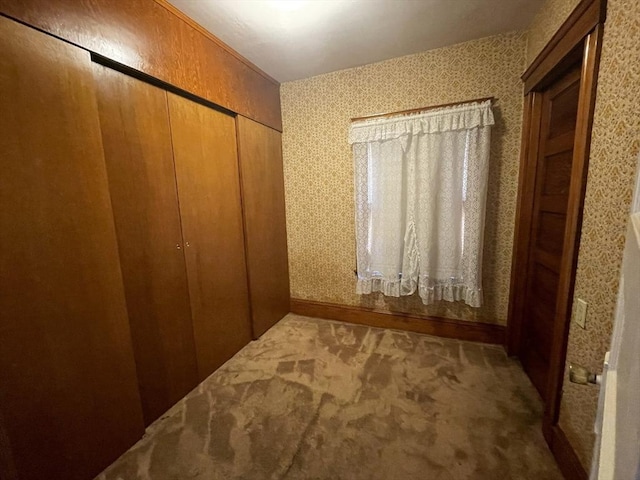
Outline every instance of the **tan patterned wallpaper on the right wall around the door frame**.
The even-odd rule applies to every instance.
[[[546,43],[571,12],[568,7],[577,3],[548,0],[532,23],[530,38],[539,39],[536,43]],[[550,30],[549,25],[554,25],[554,29]],[[639,101],[640,2],[609,0],[575,287],[575,296],[589,304],[587,328],[571,325],[567,352],[568,361],[598,372],[610,344],[633,175],[640,150]],[[567,377],[560,425],[588,469],[598,388],[574,385]]]

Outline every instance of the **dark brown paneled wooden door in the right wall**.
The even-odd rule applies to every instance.
[[[529,273],[523,308],[520,357],[543,398],[549,383],[556,303],[573,165],[580,70],[542,92],[537,145]]]

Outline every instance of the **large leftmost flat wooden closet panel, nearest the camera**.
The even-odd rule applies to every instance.
[[[0,478],[93,478],[144,431],[89,53],[0,17]]]

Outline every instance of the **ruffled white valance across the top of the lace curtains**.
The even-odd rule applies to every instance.
[[[392,140],[409,135],[470,130],[495,123],[491,101],[465,103],[456,107],[438,108],[424,113],[353,122],[349,143]]]

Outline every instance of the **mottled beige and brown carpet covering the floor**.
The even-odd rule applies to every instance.
[[[562,476],[502,348],[288,315],[100,480]]]

